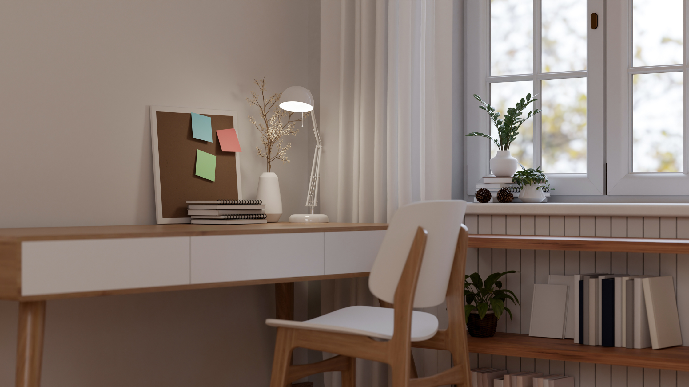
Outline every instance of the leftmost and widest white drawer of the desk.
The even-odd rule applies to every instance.
[[[21,243],[21,294],[189,284],[189,237]]]

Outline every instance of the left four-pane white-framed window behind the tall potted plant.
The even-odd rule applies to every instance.
[[[604,34],[590,29],[587,8],[603,11],[601,0],[469,1],[465,8],[466,94],[489,98],[503,113],[538,94],[528,110],[543,112],[522,126],[510,150],[524,167],[542,166],[561,195],[604,191]],[[467,132],[495,136],[473,98],[464,108]],[[465,142],[473,195],[497,149],[479,138]]]

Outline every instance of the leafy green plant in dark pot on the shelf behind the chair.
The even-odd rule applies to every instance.
[[[493,337],[497,320],[503,311],[512,312],[505,306],[505,300],[511,300],[513,304],[519,304],[519,299],[513,291],[502,289],[502,278],[505,274],[520,273],[519,271],[504,271],[493,273],[481,280],[478,273],[464,275],[464,313],[466,315],[466,328],[473,337]],[[471,280],[471,282],[469,282]]]

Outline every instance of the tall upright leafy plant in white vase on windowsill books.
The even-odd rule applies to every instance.
[[[495,107],[491,106],[490,103],[483,101],[477,94],[474,94],[474,98],[481,102],[479,107],[484,109],[488,115],[491,116],[493,125],[495,125],[497,129],[498,138],[493,138],[489,134],[481,132],[471,132],[466,136],[481,136],[493,140],[493,143],[497,145],[498,149],[497,154],[495,157],[491,158],[490,162],[493,175],[504,177],[512,176],[515,171],[517,171],[518,163],[517,159],[513,158],[510,154],[510,144],[517,138],[517,134],[519,134],[517,131],[522,127],[522,124],[524,124],[528,118],[541,112],[541,109],[533,109],[526,114],[526,117],[522,117],[522,110],[526,109],[528,104],[538,100],[536,98],[531,98],[531,93],[526,94],[526,98],[520,99],[515,107],[508,107],[507,114],[504,114],[504,116],[500,118],[500,112],[495,112]]]

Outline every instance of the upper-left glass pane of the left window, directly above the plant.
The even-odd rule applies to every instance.
[[[532,72],[533,0],[491,0],[491,75]]]

